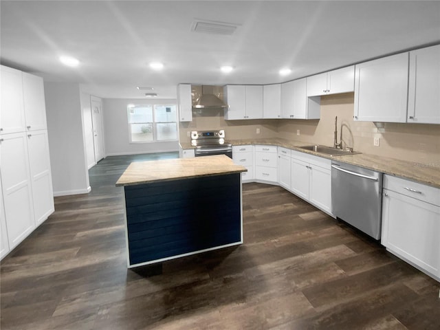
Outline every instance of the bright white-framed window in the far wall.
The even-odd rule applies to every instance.
[[[175,104],[129,104],[130,142],[177,140]]]

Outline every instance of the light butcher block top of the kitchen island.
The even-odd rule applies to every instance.
[[[118,179],[116,186],[133,186],[246,171],[244,166],[234,164],[226,155],[133,162]]]

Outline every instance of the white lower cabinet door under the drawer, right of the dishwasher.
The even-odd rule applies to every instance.
[[[382,244],[391,252],[440,275],[440,207],[384,190]]]

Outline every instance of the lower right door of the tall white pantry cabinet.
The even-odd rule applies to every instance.
[[[54,192],[46,130],[28,133],[28,155],[34,219],[36,225],[39,225],[54,212]]]

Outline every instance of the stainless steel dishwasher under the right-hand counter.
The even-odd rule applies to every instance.
[[[382,225],[382,173],[331,162],[332,213],[374,239]]]

